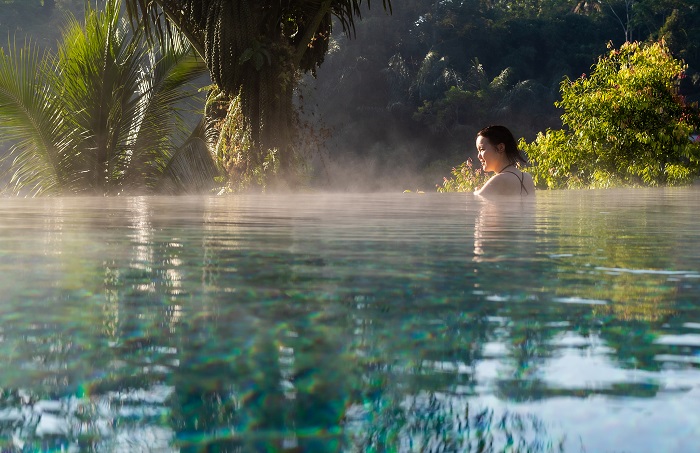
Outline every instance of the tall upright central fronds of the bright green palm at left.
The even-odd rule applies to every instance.
[[[63,101],[84,131],[70,156],[73,174],[82,175],[74,191],[120,190],[139,131],[147,48],[119,12],[117,0],[109,0],[103,11],[88,8],[85,27],[73,24],[59,48]]]

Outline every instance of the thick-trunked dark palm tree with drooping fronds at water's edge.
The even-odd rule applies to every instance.
[[[228,143],[229,172],[245,178],[273,157],[293,182],[293,93],[328,50],[333,17],[354,31],[362,0],[125,0],[134,25],[181,31],[205,59],[224,107],[211,109]],[[391,9],[390,0],[382,0]],[[370,1],[367,1],[370,6]],[[238,121],[223,120],[229,116]],[[226,131],[223,125],[231,128]],[[241,133],[241,130],[244,132]],[[238,137],[238,138],[236,138]],[[236,143],[238,142],[238,143]],[[237,155],[232,155],[236,154]]]

